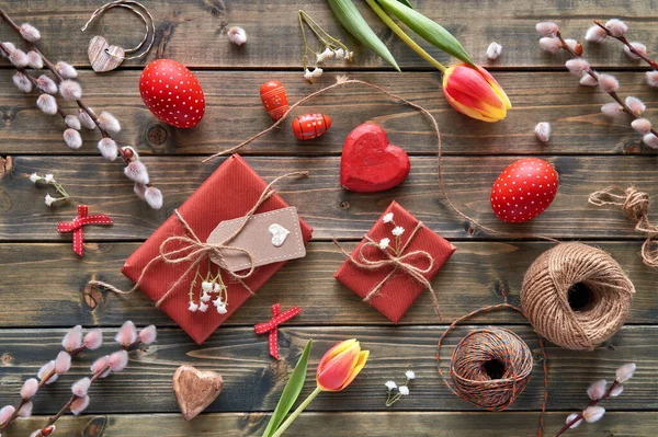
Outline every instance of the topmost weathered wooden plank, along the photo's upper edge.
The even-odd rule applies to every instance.
[[[160,49],[164,56],[193,67],[266,66],[300,69],[303,43],[297,10],[304,9],[329,33],[342,38],[354,50],[355,61],[350,62],[350,67],[390,69],[340,28],[322,0],[291,0],[275,4],[266,0],[167,0],[144,3],[156,18],[156,44],[146,59],[126,62],[128,66],[144,65],[154,59]],[[402,68],[430,68],[429,64],[393,35],[363,2],[356,3]],[[566,58],[546,55],[537,46],[538,35],[534,25],[544,20],[558,22],[566,37],[582,38],[592,20],[620,18],[631,25],[633,39],[646,43],[647,47],[658,45],[658,35],[653,26],[658,7],[653,2],[588,0],[565,3],[549,0],[537,5],[521,0],[512,3],[492,0],[483,8],[478,0],[450,0],[440,3],[417,0],[413,4],[418,11],[452,32],[476,62],[485,65],[491,64],[487,61],[485,50],[489,43],[496,41],[504,47],[496,66],[561,66]],[[65,59],[78,66],[89,65],[87,46],[95,34],[104,35],[111,43],[125,48],[133,47],[144,35],[144,27],[135,15],[116,10],[97,21],[89,31],[80,32],[80,27],[98,5],[89,0],[37,0],[5,4],[14,21],[30,21],[42,31],[42,47],[45,53],[54,59]],[[228,43],[226,31],[232,25],[247,30],[249,41],[242,48]],[[15,35],[7,25],[2,25],[0,38],[15,41]],[[421,45],[440,61],[451,61],[446,55],[424,42]],[[638,65],[625,58],[619,43],[609,42],[604,47],[586,45],[586,54],[597,65]]]

